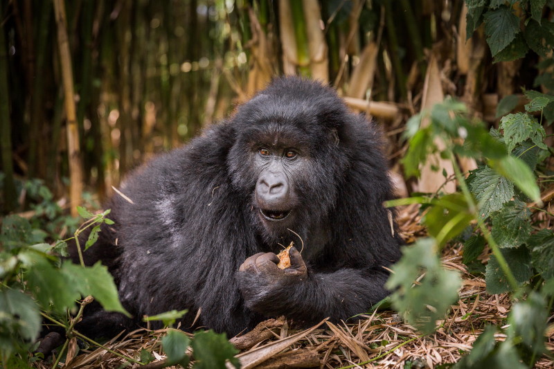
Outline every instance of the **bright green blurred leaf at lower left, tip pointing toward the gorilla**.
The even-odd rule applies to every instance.
[[[114,279],[100,262],[92,267],[82,267],[66,261],[62,264],[62,272],[82,296],[92,295],[105,310],[130,316],[119,302]]]

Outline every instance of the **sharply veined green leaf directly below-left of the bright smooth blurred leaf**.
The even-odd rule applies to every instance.
[[[473,170],[467,178],[472,194],[479,201],[479,217],[486,219],[514,196],[514,186],[487,166]]]

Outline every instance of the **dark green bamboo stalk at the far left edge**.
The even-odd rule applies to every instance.
[[[13,182],[12,134],[10,121],[10,95],[8,91],[8,49],[4,28],[0,24],[0,144],[4,172],[4,209],[9,212],[17,206],[17,192]]]

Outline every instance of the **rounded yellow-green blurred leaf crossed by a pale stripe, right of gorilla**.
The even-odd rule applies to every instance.
[[[433,202],[433,206],[423,217],[429,234],[443,246],[459,235],[474,219],[461,193],[446,195]]]

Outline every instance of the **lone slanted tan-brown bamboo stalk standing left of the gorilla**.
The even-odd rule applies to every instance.
[[[75,111],[75,96],[73,90],[73,70],[71,67],[71,53],[67,37],[67,21],[64,1],[54,1],[54,14],[57,24],[57,45],[60,52],[60,66],[64,84],[64,102],[66,110],[67,150],[69,156],[69,200],[71,201],[71,215],[78,216],[77,208],[81,203],[82,193],[82,163],[80,158],[79,131],[77,114]]]

